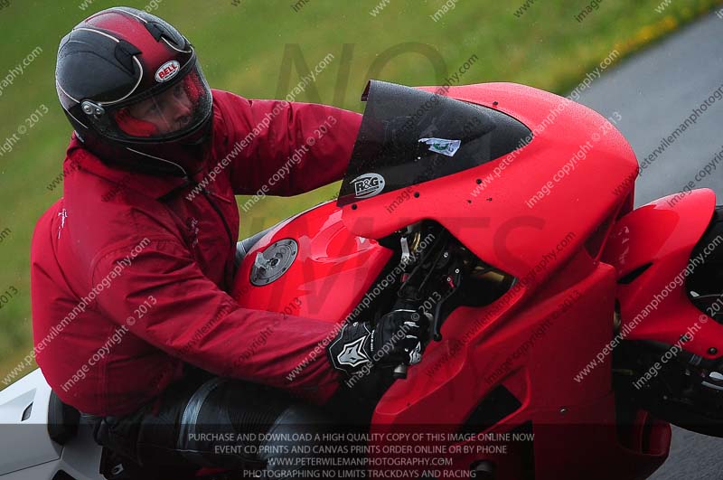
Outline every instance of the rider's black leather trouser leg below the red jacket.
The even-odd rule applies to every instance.
[[[336,424],[337,431],[339,427]],[[313,462],[304,458],[314,455],[307,448],[299,450],[308,453],[292,453],[292,447],[308,446],[316,433],[333,429],[333,421],[320,409],[283,391],[195,374],[170,386],[154,405],[99,419],[95,436],[100,445],[144,468],[173,466],[192,472],[221,466],[248,475],[259,470],[313,471]],[[266,435],[259,439],[260,434]]]

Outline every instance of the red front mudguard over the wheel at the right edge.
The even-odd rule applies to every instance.
[[[615,224],[603,261],[615,266],[617,278],[649,266],[634,281],[618,287],[625,338],[672,345],[697,325],[685,350],[703,358],[720,356],[709,348],[718,351],[723,344],[723,325],[693,306],[683,284],[706,260],[704,254],[691,259],[690,253],[708,228],[715,207],[715,193],[694,190],[682,199],[671,195],[648,203]]]

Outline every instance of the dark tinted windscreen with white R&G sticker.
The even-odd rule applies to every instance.
[[[371,80],[339,206],[482,165],[530,129],[497,110]]]

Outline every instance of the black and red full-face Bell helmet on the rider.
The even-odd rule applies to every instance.
[[[55,85],[103,162],[148,174],[200,169],[211,89],[191,43],[164,20],[125,6],[90,16],[61,40]]]

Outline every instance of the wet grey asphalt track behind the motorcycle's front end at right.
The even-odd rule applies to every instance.
[[[723,19],[710,14],[606,71],[579,101],[606,117],[617,111],[622,116],[617,127],[642,164],[656,148],[660,152],[663,138],[671,136],[693,108],[701,110],[723,85],[721,39]],[[714,97],[709,104],[695,124],[643,169],[635,187],[636,206],[679,193],[690,188],[689,182],[713,190],[723,204],[723,99]],[[707,164],[709,172],[704,170]],[[723,438],[673,428],[671,455],[650,478],[723,479]]]

